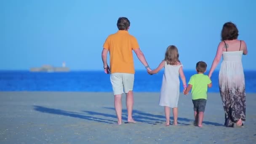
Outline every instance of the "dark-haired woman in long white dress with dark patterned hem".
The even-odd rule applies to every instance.
[[[219,71],[219,90],[225,111],[227,127],[243,125],[245,122],[245,77],[242,65],[242,55],[247,54],[246,43],[237,40],[238,29],[232,22],[223,25],[221,42],[213,60],[209,77],[219,64],[221,56],[223,61]]]

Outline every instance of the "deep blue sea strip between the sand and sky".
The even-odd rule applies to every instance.
[[[195,71],[184,71],[187,83]],[[207,73],[206,73],[207,74]],[[208,92],[219,92],[219,72],[212,76],[213,87]],[[163,71],[148,75],[146,71],[136,71],[135,92],[159,92]],[[182,91],[182,83],[181,83]],[[245,91],[256,93],[256,71],[245,71]],[[0,71],[0,91],[83,91],[112,92],[109,75],[102,71],[72,72],[29,72]]]

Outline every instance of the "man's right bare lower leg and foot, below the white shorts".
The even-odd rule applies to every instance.
[[[128,123],[136,123],[135,120],[133,120],[132,113],[133,113],[133,91],[129,91],[126,93],[126,107],[127,107],[127,113],[128,113]]]

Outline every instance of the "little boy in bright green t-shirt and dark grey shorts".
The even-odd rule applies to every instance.
[[[212,83],[206,72],[207,64],[204,61],[197,62],[197,74],[192,75],[189,80],[189,85],[184,91],[187,95],[192,88],[192,102],[194,104],[195,125],[203,127],[203,113],[205,111],[207,89],[212,87]]]

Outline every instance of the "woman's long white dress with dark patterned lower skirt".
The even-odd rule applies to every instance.
[[[223,51],[219,72],[219,89],[225,111],[225,126],[233,127],[239,119],[245,122],[245,77],[243,51]]]

